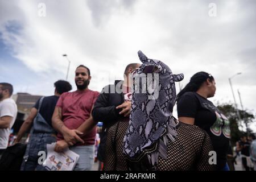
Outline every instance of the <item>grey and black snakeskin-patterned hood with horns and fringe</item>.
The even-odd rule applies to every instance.
[[[148,162],[154,166],[159,155],[167,158],[168,141],[176,137],[177,120],[172,117],[175,81],[183,80],[184,76],[172,74],[166,64],[148,59],[142,51],[138,51],[138,56],[142,65],[133,73],[131,114],[123,152],[133,162],[147,155]]]

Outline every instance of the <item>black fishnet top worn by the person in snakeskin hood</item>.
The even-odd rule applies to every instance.
[[[104,170],[128,170],[123,154],[123,138],[128,126],[129,122],[119,122],[109,128]],[[208,162],[209,151],[213,150],[209,135],[195,125],[181,122],[177,125],[176,131],[175,142],[169,142],[167,146],[167,159],[159,156],[156,169],[159,171],[213,170],[214,165]]]

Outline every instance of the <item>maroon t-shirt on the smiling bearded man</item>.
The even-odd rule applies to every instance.
[[[61,94],[56,106],[62,109],[62,121],[68,129],[77,129],[82,123],[90,117],[90,112],[94,102],[97,100],[99,93],[92,90],[85,90],[84,92],[66,92]],[[90,133],[84,135],[82,139],[84,144],[80,142],[77,146],[91,145],[95,142],[96,127]],[[58,133],[57,140],[62,140],[63,135]]]

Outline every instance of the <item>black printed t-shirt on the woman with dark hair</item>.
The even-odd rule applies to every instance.
[[[195,125],[207,131],[217,153],[217,168],[226,164],[230,127],[229,120],[212,102],[196,92],[186,92],[177,102],[178,117],[195,118]]]

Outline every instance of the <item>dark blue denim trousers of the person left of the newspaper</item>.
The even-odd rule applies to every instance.
[[[44,167],[38,163],[39,151],[45,151],[47,155],[46,144],[56,142],[56,137],[53,134],[36,133],[30,135],[30,140],[27,144],[27,149],[23,157],[21,171],[43,171]]]

